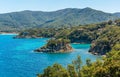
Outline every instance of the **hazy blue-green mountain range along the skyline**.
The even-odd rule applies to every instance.
[[[68,27],[117,19],[119,16],[91,8],[67,8],[53,12],[21,11],[0,14],[0,30],[31,27]]]

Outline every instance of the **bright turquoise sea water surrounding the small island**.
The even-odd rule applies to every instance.
[[[74,48],[72,53],[35,53],[33,50],[46,44],[47,38],[12,39],[13,36],[0,35],[0,77],[36,77],[47,66],[54,63],[66,66],[77,55],[81,55],[83,63],[86,58],[92,61],[99,58],[88,53],[90,44],[71,44]]]

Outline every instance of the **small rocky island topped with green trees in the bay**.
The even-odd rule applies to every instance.
[[[70,46],[70,40],[68,39],[50,39],[48,43],[35,50],[35,52],[44,53],[66,53],[72,52],[73,48]]]

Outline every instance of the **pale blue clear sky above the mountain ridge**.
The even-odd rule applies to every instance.
[[[0,0],[0,13],[23,10],[56,11],[90,7],[104,12],[120,12],[120,0]]]

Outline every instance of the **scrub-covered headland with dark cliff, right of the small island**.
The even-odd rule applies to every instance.
[[[93,41],[90,52],[104,55],[116,44],[120,44],[120,27],[107,26],[102,35]]]

